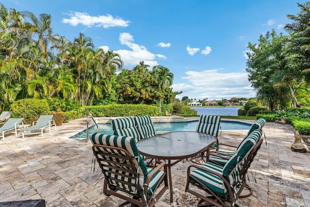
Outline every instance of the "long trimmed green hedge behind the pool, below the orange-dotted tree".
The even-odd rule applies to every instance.
[[[159,108],[145,104],[111,104],[107,106],[86,106],[84,115],[89,115],[92,111],[93,116],[116,117],[116,116],[157,116]]]

